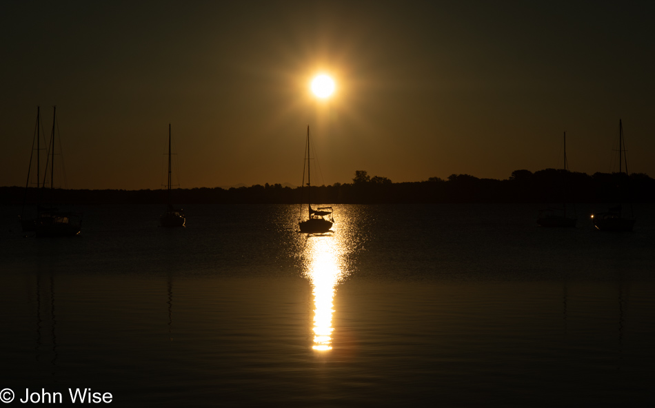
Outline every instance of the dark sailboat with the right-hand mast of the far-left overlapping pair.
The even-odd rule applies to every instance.
[[[82,216],[76,212],[61,212],[52,206],[54,196],[54,135],[57,130],[57,107],[54,107],[52,117],[52,136],[50,136],[50,205],[39,206],[38,216],[35,223],[34,232],[37,237],[41,236],[75,236],[79,234],[82,228]],[[47,167],[47,164],[46,164]],[[46,188],[46,174],[43,176],[41,188]]]

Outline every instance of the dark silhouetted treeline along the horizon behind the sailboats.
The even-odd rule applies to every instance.
[[[175,204],[196,203],[283,203],[307,201],[301,187],[281,184],[251,187],[177,189]],[[37,192],[23,187],[0,187],[0,203],[34,203]],[[75,204],[165,203],[165,190],[52,190],[43,192],[43,201]],[[585,173],[546,169],[538,172],[516,170],[507,180],[478,179],[468,174],[452,174],[447,179],[393,183],[381,176],[355,172],[352,183],[312,186],[312,203],[634,203],[655,202],[655,180],[647,174]]]

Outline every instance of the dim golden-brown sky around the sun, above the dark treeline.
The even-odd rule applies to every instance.
[[[562,167],[655,176],[655,6],[599,1],[4,1],[0,185],[57,105],[69,188],[394,182]],[[336,82],[319,101],[310,81]]]

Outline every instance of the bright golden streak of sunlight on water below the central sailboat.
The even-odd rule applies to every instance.
[[[314,345],[317,351],[332,349],[332,313],[336,285],[348,275],[347,250],[339,234],[310,234],[303,250],[304,274],[314,287]]]

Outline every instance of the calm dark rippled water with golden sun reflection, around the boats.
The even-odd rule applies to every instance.
[[[655,206],[632,234],[538,205],[85,208],[35,239],[4,207],[0,389],[116,407],[655,404]],[[21,404],[14,400],[8,404]],[[79,404],[78,404],[79,405]],[[95,404],[94,404],[95,405]],[[104,405],[104,404],[101,404]]]

